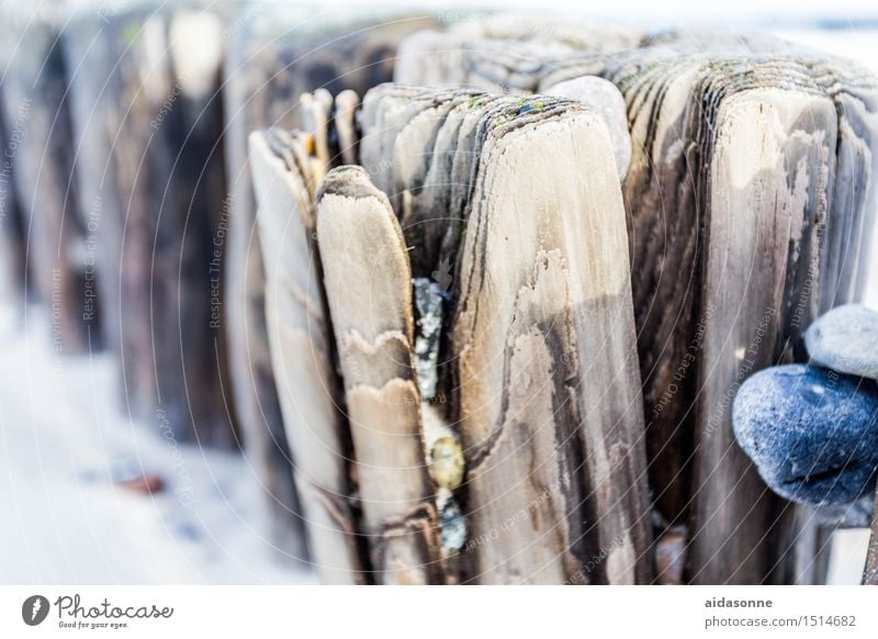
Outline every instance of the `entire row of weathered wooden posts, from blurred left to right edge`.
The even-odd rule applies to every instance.
[[[871,76],[566,19],[63,5],[4,9],[0,291],[112,352],[132,417],[241,444],[282,551],[333,583],[825,580],[830,527],[730,410],[862,294]],[[554,89],[582,76],[624,161]]]

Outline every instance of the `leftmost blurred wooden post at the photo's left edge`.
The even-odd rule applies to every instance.
[[[42,9],[42,10],[41,10]],[[0,107],[14,148],[11,179],[23,212],[27,288],[48,309],[53,348],[99,349],[95,247],[77,208],[60,3],[21,3],[0,11]],[[10,138],[12,139],[12,138]]]

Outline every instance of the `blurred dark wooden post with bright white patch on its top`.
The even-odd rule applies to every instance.
[[[230,446],[216,94],[223,23],[188,7],[139,3],[97,27],[83,10],[65,31],[86,152],[77,175],[102,225],[99,274],[108,279],[104,316],[125,407],[176,438]]]

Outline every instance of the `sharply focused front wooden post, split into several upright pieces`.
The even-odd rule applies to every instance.
[[[362,166],[324,178],[340,102],[303,97],[308,133],[250,141],[272,361],[305,512],[326,523],[317,563],[381,583],[649,581],[603,120],[556,98],[382,86],[359,117]]]

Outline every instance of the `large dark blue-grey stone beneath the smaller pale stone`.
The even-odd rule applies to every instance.
[[[777,494],[848,504],[871,492],[878,469],[878,384],[819,367],[759,371],[735,396],[738,444]]]

